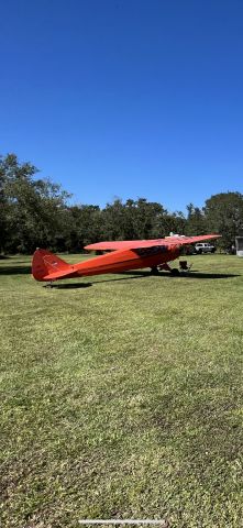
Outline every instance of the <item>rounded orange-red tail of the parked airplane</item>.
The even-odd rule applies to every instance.
[[[36,280],[54,280],[69,275],[73,266],[46,250],[36,250],[32,258],[32,275]]]

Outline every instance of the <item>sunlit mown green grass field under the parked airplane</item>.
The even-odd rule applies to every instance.
[[[190,261],[52,289],[0,261],[2,527],[243,527],[243,260]]]

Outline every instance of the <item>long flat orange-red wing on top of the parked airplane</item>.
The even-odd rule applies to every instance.
[[[219,239],[221,234],[201,234],[199,237],[166,237],[165,239],[154,240],[123,240],[117,242],[98,242],[85,246],[85,250],[136,250],[139,248],[153,248],[155,245],[184,245],[195,244],[203,240]]]

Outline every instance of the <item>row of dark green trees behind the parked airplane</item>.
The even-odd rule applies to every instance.
[[[156,239],[170,232],[222,234],[218,244],[228,249],[243,230],[243,195],[211,196],[202,208],[189,204],[187,213],[169,212],[162,204],[114,199],[104,208],[74,206],[71,195],[51,179],[38,178],[31,163],[15,154],[0,156],[0,252],[32,253],[36,248],[79,252],[102,240]]]

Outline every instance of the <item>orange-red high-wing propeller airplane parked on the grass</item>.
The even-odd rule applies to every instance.
[[[86,245],[85,249],[109,251],[109,253],[79,262],[78,264],[67,264],[53,253],[37,249],[32,260],[32,275],[36,280],[45,280],[49,284],[58,278],[122,273],[144,267],[150,267],[152,274],[157,274],[159,270],[166,270],[177,275],[179,270],[172,268],[169,263],[180,255],[184,245],[218,239],[219,237],[219,234],[203,234],[200,237],[173,235],[156,240],[98,242]],[[187,264],[185,267],[180,265],[180,268],[188,270]]]

